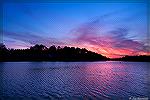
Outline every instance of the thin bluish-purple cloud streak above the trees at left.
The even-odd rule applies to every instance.
[[[31,33],[15,33],[15,32],[3,32],[4,37],[8,37],[11,39],[19,40],[25,43],[29,43],[30,45],[35,45],[35,44],[44,44],[46,46],[51,46],[51,45],[65,45],[63,42],[58,41],[55,38],[51,37],[41,37],[38,35],[34,35]]]

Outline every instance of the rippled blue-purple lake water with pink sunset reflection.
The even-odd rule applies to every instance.
[[[0,99],[150,99],[149,62],[3,62]]]

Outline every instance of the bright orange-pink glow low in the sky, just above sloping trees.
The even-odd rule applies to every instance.
[[[108,58],[121,58],[126,55],[129,55],[129,56],[149,55],[150,56],[150,52],[144,52],[144,51],[137,52],[133,49],[128,49],[128,48],[123,48],[123,49],[122,48],[111,48],[108,46],[99,47],[99,46],[93,46],[93,45],[89,45],[89,44],[75,45],[75,47],[80,47],[80,48],[84,47],[87,50],[96,52],[96,53],[106,56]]]

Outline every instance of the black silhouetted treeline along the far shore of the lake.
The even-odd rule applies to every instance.
[[[88,51],[85,48],[38,45],[29,49],[9,49],[0,44],[0,61],[146,61],[150,62],[150,56],[125,56],[109,59],[105,56]]]

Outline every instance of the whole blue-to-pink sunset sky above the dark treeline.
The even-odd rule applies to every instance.
[[[107,57],[150,55],[147,2],[3,4],[8,48],[74,46]]]

